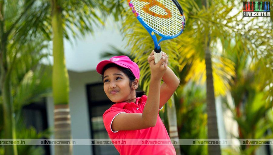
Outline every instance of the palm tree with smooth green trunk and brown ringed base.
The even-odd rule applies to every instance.
[[[81,35],[86,35],[88,32],[93,32],[93,25],[97,22],[103,24],[94,9],[100,9],[104,15],[109,15],[111,12],[118,19],[119,8],[122,8],[122,5],[119,4],[118,1],[51,0],[54,57],[52,87],[55,104],[55,138],[72,138],[68,95],[69,79],[64,58],[63,38],[64,36],[69,38],[68,30],[72,32],[73,36],[78,36],[78,32],[74,30],[73,26],[79,30]],[[114,7],[116,5],[117,7]],[[111,9],[106,9],[107,6],[111,6]],[[65,27],[63,27],[64,25]],[[55,146],[55,153],[72,154],[72,145],[57,145]]]

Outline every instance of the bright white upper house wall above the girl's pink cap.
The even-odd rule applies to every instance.
[[[120,32],[121,23],[115,22],[113,17],[109,17],[105,21],[105,25],[94,26],[93,34],[86,34],[85,37],[71,39],[71,42],[64,39],[64,54],[66,59],[66,67],[71,71],[86,72],[95,70],[96,65],[102,60],[100,54],[110,51],[110,45],[117,47],[122,51],[128,51],[125,48],[126,39]],[[52,42],[50,42],[49,52],[52,55]],[[49,59],[41,61],[44,64],[53,64],[53,56]]]

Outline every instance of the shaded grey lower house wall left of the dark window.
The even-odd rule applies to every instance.
[[[91,138],[90,120],[86,93],[86,84],[101,81],[100,75],[96,71],[72,72],[69,71],[69,107],[71,114],[72,138]],[[47,113],[49,128],[54,127],[54,103],[53,98],[47,98]],[[52,135],[52,138],[54,136]],[[92,154],[91,146],[73,146],[73,154]],[[54,154],[54,146],[50,146],[51,154]]]

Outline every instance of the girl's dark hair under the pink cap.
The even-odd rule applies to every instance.
[[[133,73],[131,72],[130,69],[127,68],[123,68],[121,66],[118,66],[114,63],[110,63],[107,64],[104,68],[103,68],[103,74],[105,72],[106,69],[110,68],[110,67],[116,67],[118,68],[120,71],[122,71],[124,74],[126,74],[129,77],[129,85],[130,87],[132,86],[133,81],[136,79],[136,77],[133,75]],[[102,81],[103,81],[103,74],[102,74]],[[136,91],[136,97],[141,97],[142,95],[145,95],[145,91]]]

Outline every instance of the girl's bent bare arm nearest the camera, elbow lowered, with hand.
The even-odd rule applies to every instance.
[[[166,58],[167,59],[167,58]],[[160,102],[160,83],[162,76],[167,70],[165,59],[154,64],[154,60],[150,62],[151,82],[149,96],[143,109],[143,113],[120,113],[112,122],[112,130],[140,130],[153,127],[157,123],[157,115]]]

